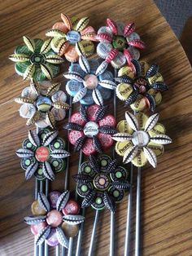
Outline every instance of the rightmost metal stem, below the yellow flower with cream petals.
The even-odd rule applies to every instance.
[[[137,168],[137,199],[135,224],[135,256],[140,256],[141,168]]]

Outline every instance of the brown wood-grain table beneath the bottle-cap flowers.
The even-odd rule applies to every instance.
[[[22,43],[22,36],[44,38],[46,29],[59,20],[61,12],[90,16],[90,24],[97,29],[110,16],[124,22],[134,20],[137,32],[146,42],[143,58],[156,61],[169,86],[163,103],[158,107],[160,121],[167,127],[173,143],[159,157],[158,167],[142,171],[142,254],[192,255],[192,73],[190,64],[172,29],[151,0],[142,1],[56,1],[9,0],[1,2],[1,95],[0,95],[0,255],[32,255],[33,236],[23,223],[31,214],[34,179],[24,181],[24,172],[15,150],[27,137],[28,127],[19,117],[14,98],[28,82],[15,74],[14,64],[8,55]],[[118,104],[118,120],[124,110]],[[121,109],[121,111],[120,111]],[[59,125],[60,135],[66,136]],[[71,159],[70,173],[76,173],[77,157]],[[64,174],[59,174],[51,188],[63,189]],[[74,188],[71,179],[70,188]],[[135,190],[135,188],[134,188]],[[135,205],[135,196],[133,195]],[[116,255],[123,255],[126,219],[126,198],[116,213]],[[133,207],[134,208],[134,207]],[[82,255],[86,255],[93,210],[86,211],[85,235]],[[104,211],[98,227],[95,255],[109,252],[109,213]],[[134,254],[134,215],[132,218],[132,249]]]

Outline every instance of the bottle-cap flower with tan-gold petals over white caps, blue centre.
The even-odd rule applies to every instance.
[[[28,118],[27,125],[35,123],[40,128],[55,128],[55,121],[63,120],[69,105],[67,96],[59,90],[59,83],[41,82],[32,79],[30,86],[24,88],[15,102],[22,104],[20,116]]]

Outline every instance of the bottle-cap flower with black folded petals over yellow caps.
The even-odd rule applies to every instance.
[[[116,77],[116,95],[120,100],[129,105],[134,111],[140,112],[150,108],[154,112],[155,107],[162,100],[161,91],[168,90],[164,78],[158,72],[159,65],[132,60],[133,68],[125,66],[120,68]]]

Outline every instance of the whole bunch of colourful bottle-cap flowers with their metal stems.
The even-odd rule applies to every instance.
[[[128,256],[133,172],[137,173],[135,255],[140,255],[141,168],[147,162],[155,168],[164,144],[172,140],[155,112],[168,86],[158,64],[139,61],[145,44],[135,27],[133,22],[107,19],[96,33],[88,17],[70,19],[61,14],[46,32],[46,40],[24,36],[24,44],[9,57],[27,85],[15,99],[20,117],[26,118],[27,126],[36,126],[16,151],[25,179],[36,181],[32,214],[24,218],[35,236],[36,256],[49,255],[49,246],[55,246],[57,256],[81,255],[86,207],[95,211],[88,255],[94,255],[101,210],[111,212],[109,254],[114,255],[116,205],[126,195],[124,256]],[[91,57],[95,49],[97,58]],[[68,70],[63,70],[63,62]],[[55,82],[57,77],[67,78],[67,94]],[[124,101],[124,120],[116,120],[117,100]],[[78,111],[72,111],[73,105]],[[56,127],[66,113],[63,129],[68,136],[61,138]],[[74,198],[68,191],[70,148],[80,152],[72,177]],[[51,192],[49,183],[62,170],[63,191]]]

